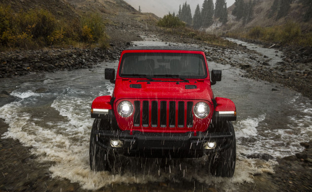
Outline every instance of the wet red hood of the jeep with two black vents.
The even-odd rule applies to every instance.
[[[200,99],[211,100],[213,93],[210,81],[179,80],[143,81],[117,80],[114,97],[116,99]]]

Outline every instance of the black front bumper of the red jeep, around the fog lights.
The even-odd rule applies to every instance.
[[[207,133],[144,133],[140,131],[101,130],[91,133],[101,147],[114,149],[126,156],[198,158],[203,154],[216,153],[229,148],[234,136],[231,132]],[[119,145],[112,146],[111,140],[119,140]],[[215,141],[213,149],[204,148],[205,143]]]

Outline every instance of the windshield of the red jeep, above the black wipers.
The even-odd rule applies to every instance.
[[[204,57],[191,53],[125,53],[119,75],[123,78],[189,78],[207,76]]]

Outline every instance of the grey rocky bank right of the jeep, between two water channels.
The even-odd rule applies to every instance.
[[[281,46],[262,42],[248,41],[263,47],[278,49],[283,52],[281,62],[272,67],[267,62],[259,62],[256,66],[243,65],[245,76],[268,82],[279,83],[312,99],[312,47],[311,46]],[[277,54],[277,53],[276,53]],[[265,55],[263,57],[266,57]]]

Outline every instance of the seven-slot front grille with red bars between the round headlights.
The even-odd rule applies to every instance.
[[[192,128],[192,109],[192,101],[134,101],[133,126]]]

